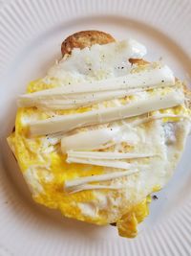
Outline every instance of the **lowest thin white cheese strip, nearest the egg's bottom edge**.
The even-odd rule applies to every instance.
[[[100,190],[100,189],[109,189],[109,190],[119,190],[125,188],[123,185],[92,185],[92,184],[86,184],[81,186],[76,186],[71,189],[69,192],[70,194],[74,194],[80,191],[85,190]]]

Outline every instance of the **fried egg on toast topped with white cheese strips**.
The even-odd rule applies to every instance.
[[[61,50],[18,97],[11,151],[36,202],[135,237],[184,149],[190,92],[134,39],[80,32]]]

